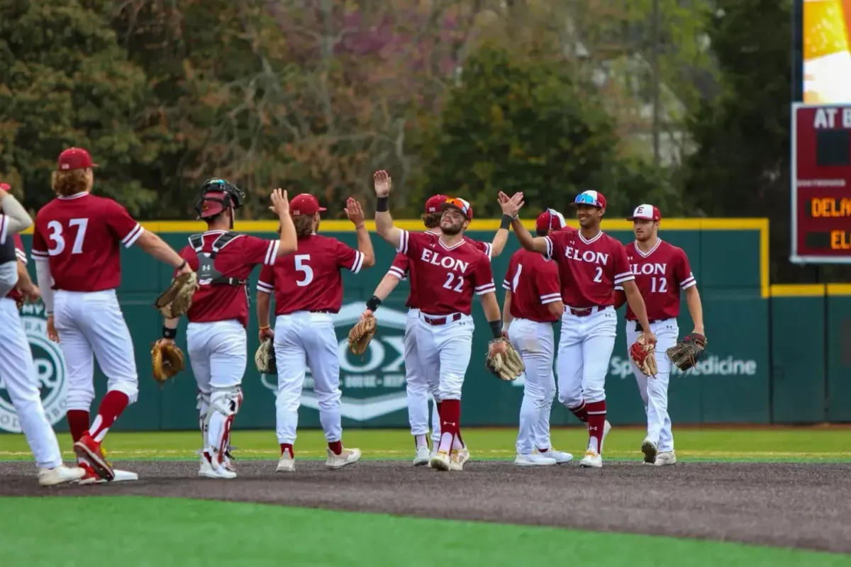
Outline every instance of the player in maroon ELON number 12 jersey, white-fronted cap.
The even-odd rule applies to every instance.
[[[647,377],[632,363],[632,373],[638,381],[638,391],[644,400],[647,413],[647,437],[641,449],[644,462],[658,467],[677,462],[674,452],[674,436],[671,433],[671,417],[668,416],[668,382],[671,378],[671,360],[665,354],[677,343],[680,315],[680,291],[686,297],[688,313],[694,322],[694,332],[704,333],[703,307],[697,281],[694,280],[688,257],[682,248],[675,247],[659,237],[662,215],[653,205],[640,205],[629,220],[633,223],[636,240],[625,245],[626,259],[630,263],[636,285],[647,304],[650,330],[659,342],[656,343],[656,366],[658,373]],[[625,303],[625,294],[615,287],[615,309]],[[643,327],[638,322],[631,306],[626,308],[626,344],[636,342]]]

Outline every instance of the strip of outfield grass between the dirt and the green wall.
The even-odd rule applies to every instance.
[[[675,432],[677,458],[691,461],[833,461],[851,462],[851,428],[754,428],[688,429]],[[464,440],[475,459],[513,459],[514,429],[465,429]],[[585,428],[552,431],[552,443],[562,451],[581,452],[587,442]],[[644,439],[643,428],[618,428],[606,438],[606,458],[638,460]],[[233,445],[241,459],[277,459],[274,431],[235,431]],[[347,429],[346,445],[359,447],[364,458],[407,459],[413,440],[406,431],[388,429]],[[71,437],[60,434],[60,443],[71,456]],[[113,432],[104,444],[110,459],[195,459],[201,434],[195,431],[163,433]],[[299,458],[324,458],[325,440],[321,431],[303,431],[296,439]],[[29,459],[30,451],[22,435],[0,435],[0,460]]]

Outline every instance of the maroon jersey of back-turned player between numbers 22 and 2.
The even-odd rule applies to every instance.
[[[538,252],[517,250],[511,254],[505,281],[505,289],[511,291],[511,316],[540,323],[558,320],[547,309],[547,303],[562,300],[558,282],[558,266]]]

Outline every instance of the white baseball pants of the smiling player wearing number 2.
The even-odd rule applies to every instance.
[[[606,372],[614,350],[618,315],[614,308],[594,310],[590,315],[562,315],[558,341],[558,401],[568,408],[606,399]]]

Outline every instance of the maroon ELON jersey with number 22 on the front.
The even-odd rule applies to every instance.
[[[434,235],[402,230],[397,252],[410,260],[411,285],[428,315],[470,315],[473,293],[496,292],[490,260],[469,241],[446,247]]]

